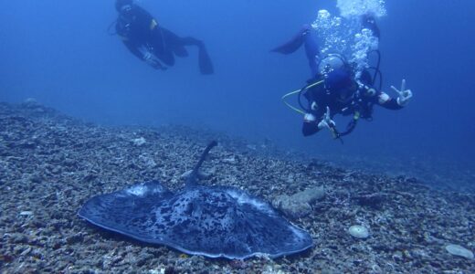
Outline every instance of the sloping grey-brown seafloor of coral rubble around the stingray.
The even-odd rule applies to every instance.
[[[186,256],[92,227],[77,216],[91,196],[158,179],[172,189],[212,139],[203,184],[240,187],[267,201],[322,186],[326,195],[291,221],[314,247],[288,258]],[[137,142],[137,141],[145,141]],[[135,141],[135,142],[134,142]],[[475,195],[408,177],[296,161],[269,146],[183,127],[101,127],[34,102],[0,104],[2,273],[475,273]],[[428,182],[430,183],[430,182]],[[347,232],[370,230],[366,239]]]

